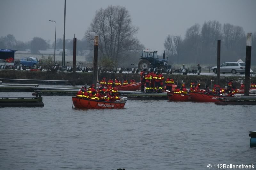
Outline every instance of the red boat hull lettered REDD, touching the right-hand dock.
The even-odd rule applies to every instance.
[[[199,93],[194,91],[189,92],[189,94],[191,96],[192,101],[195,101],[195,102],[217,102],[219,101],[217,98],[224,97],[224,96],[210,95],[210,94],[204,94],[204,93]]]

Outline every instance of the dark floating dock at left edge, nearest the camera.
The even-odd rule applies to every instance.
[[[43,97],[0,97],[0,107],[44,107]]]

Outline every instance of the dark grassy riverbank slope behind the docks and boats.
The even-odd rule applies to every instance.
[[[112,78],[113,80],[117,77],[121,79],[123,76],[123,79],[127,79],[130,81],[132,78],[135,79],[135,81],[140,81],[140,75],[139,74],[126,74],[126,73],[100,73],[98,75],[98,79],[101,80],[103,77],[105,77],[107,80]],[[165,79],[171,76],[175,84],[181,85],[182,83],[186,84],[186,87],[188,88],[190,82],[200,82],[202,84],[201,88],[208,84],[211,86],[211,80],[212,85],[216,83],[217,77],[213,75],[196,75],[196,74],[188,74],[188,75],[182,75],[182,74],[164,74]],[[52,72],[52,71],[20,71],[20,70],[1,70],[0,71],[0,78],[8,78],[8,79],[33,79],[33,80],[68,80],[68,81],[76,81],[76,85],[84,85],[84,84],[92,84],[92,72],[77,72],[76,76],[73,77],[73,74],[70,72]],[[233,80],[234,86],[240,87],[241,81],[244,81],[244,76],[220,76],[220,86],[224,87],[227,85],[227,81]],[[256,82],[256,77],[252,77],[251,81]]]

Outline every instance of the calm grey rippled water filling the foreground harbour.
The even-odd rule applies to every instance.
[[[256,149],[249,146],[256,106],[128,101],[121,110],[75,110],[70,96],[43,100],[42,108],[0,108],[0,169],[256,164]]]

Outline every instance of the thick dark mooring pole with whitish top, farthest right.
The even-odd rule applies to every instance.
[[[246,56],[245,56],[244,96],[249,96],[249,89],[251,86],[250,85],[251,53],[252,53],[252,33],[247,33]]]

